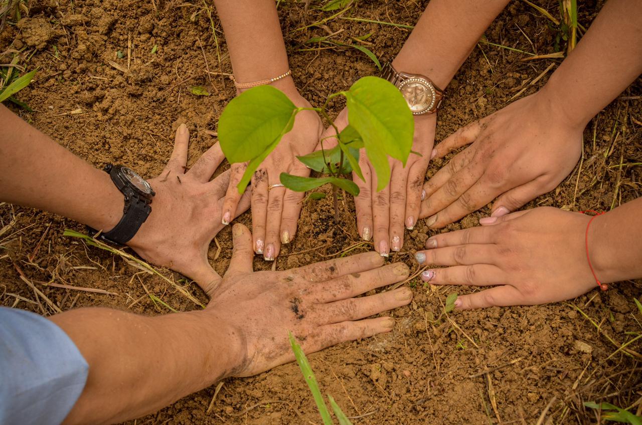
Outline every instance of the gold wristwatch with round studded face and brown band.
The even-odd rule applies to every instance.
[[[393,83],[408,102],[413,115],[434,114],[446,93],[421,74],[398,73],[390,62],[381,69],[381,78]]]

